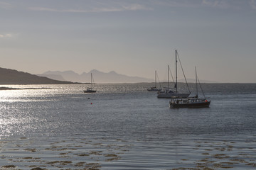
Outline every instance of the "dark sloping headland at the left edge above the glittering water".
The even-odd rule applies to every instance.
[[[73,82],[57,81],[26,72],[18,72],[15,69],[0,68],[0,84],[73,84]]]

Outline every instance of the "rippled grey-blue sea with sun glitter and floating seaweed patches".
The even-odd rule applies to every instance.
[[[38,89],[0,91],[0,169],[256,169],[256,84],[202,84],[193,109],[151,85],[8,86]]]

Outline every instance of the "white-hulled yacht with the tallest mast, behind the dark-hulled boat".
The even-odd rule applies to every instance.
[[[157,98],[187,98],[191,94],[191,92],[189,91],[189,88],[188,88],[189,93],[178,92],[177,50],[175,50],[175,58],[176,58],[176,64],[175,64],[175,66],[176,66],[176,83],[174,85],[174,90],[169,88],[169,67],[168,67],[168,88],[165,89],[164,91],[159,91]],[[182,69],[182,71],[183,71],[183,69]],[[183,75],[185,77],[184,72],[183,72]],[[186,80],[186,77],[185,77],[185,80]],[[188,86],[187,81],[186,81],[186,84]]]

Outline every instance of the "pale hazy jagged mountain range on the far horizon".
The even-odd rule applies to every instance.
[[[86,73],[83,72],[82,74],[75,73],[73,71],[65,71],[65,72],[45,72],[40,74],[44,77],[53,78],[53,75],[58,75],[59,77],[63,77],[66,81],[73,81],[73,82],[81,82],[81,83],[88,83],[90,82],[90,74],[95,80],[95,83],[139,83],[139,82],[153,82],[154,79],[146,79],[143,77],[129,77],[124,74],[118,74],[117,72],[100,72],[97,69],[92,69],[92,71]]]

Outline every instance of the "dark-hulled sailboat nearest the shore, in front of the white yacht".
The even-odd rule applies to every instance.
[[[208,108],[210,106],[210,100],[206,98],[203,93],[204,98],[198,98],[198,83],[201,87],[200,81],[196,73],[196,96],[191,98],[173,98],[169,102],[170,108]],[[203,89],[201,87],[203,92]]]

